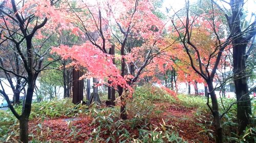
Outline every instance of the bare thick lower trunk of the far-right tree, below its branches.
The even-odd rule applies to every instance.
[[[246,126],[250,123],[250,115],[251,115],[251,101],[250,101],[250,96],[247,94],[249,91],[248,91],[247,77],[245,72],[246,70],[245,52],[246,52],[246,45],[237,44],[236,46],[233,47],[233,73],[235,75],[234,86],[236,89],[237,101],[239,102],[237,104],[239,135],[243,133]]]

